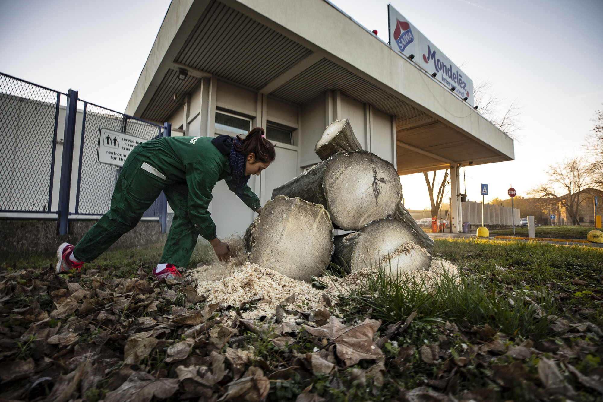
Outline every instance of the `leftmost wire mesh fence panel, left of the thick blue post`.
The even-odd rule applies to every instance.
[[[0,74],[0,211],[56,211],[52,185],[61,95]]]

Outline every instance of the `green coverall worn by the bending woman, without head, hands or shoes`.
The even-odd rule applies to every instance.
[[[198,235],[206,240],[217,237],[207,211],[213,187],[224,179],[235,191],[229,158],[211,141],[210,137],[162,137],[134,147],[119,173],[111,209],[77,243],[75,258],[90,262],[101,255],[137,225],[163,191],[174,220],[159,263],[186,267]],[[241,200],[254,211],[261,206],[248,186]]]

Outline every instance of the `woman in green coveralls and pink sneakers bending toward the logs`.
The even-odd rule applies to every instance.
[[[260,212],[256,194],[247,185],[251,174],[260,174],[274,161],[274,145],[256,127],[245,138],[162,137],[137,145],[125,159],[111,198],[111,209],[75,246],[61,244],[56,272],[80,269],[133,229],[142,214],[163,191],[174,210],[174,220],[153,274],[157,279],[180,276],[197,237],[213,246],[220,261],[229,258],[229,246],[219,240],[207,206],[212,189],[224,179],[249,208]]]

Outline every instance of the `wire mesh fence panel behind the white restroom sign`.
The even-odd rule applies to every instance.
[[[101,129],[149,140],[160,136],[163,127],[84,102],[76,214],[102,215],[109,211],[111,195],[121,167],[98,162]],[[160,202],[162,200],[157,200],[143,216],[156,217],[159,214]]]

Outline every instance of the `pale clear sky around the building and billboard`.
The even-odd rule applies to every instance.
[[[603,1],[333,0],[388,41],[391,4],[472,78],[523,107],[515,161],[466,168],[470,200],[507,197],[546,180],[555,159],[579,155],[603,109]],[[0,71],[122,111],[169,0],[0,0]],[[464,183],[461,170],[461,191]],[[441,173],[440,173],[441,174]],[[423,175],[402,176],[405,205],[429,206]],[[447,201],[446,196],[445,201]]]

